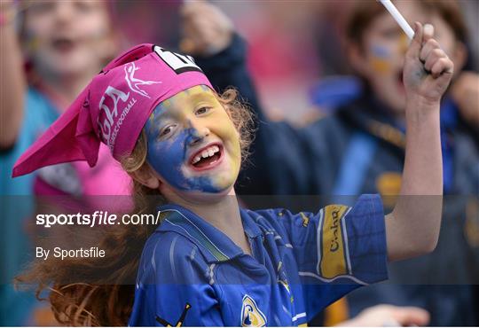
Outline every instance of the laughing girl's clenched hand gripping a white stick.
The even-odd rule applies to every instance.
[[[454,64],[433,38],[434,27],[414,23],[414,38],[405,56],[403,81],[408,99],[438,103],[449,82]]]

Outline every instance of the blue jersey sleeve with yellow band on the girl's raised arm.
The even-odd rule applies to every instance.
[[[381,197],[363,195],[353,207],[328,205],[318,214],[279,212],[300,276],[325,283],[367,285],[387,278]]]

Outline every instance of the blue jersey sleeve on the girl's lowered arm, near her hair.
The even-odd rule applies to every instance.
[[[131,326],[223,326],[204,262],[187,238],[155,233],[144,248]]]

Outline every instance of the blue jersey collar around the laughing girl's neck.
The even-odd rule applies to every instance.
[[[207,262],[227,262],[244,254],[239,246],[232,242],[224,232],[216,229],[200,216],[195,215],[185,207],[177,205],[164,205],[157,208],[164,214],[164,219],[157,231],[176,231],[185,238],[190,239],[200,252],[206,257]],[[253,238],[261,234],[259,228],[244,210],[240,211],[243,227],[247,237]]]

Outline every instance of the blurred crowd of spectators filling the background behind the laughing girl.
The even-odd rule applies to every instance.
[[[352,293],[310,325],[479,325],[479,1],[395,3],[410,23],[435,26],[455,64],[441,109],[441,237],[433,254],[394,263],[389,283]],[[13,163],[108,59],[136,43],[189,52],[218,90],[236,87],[268,122],[257,126],[240,194],[340,201],[378,192],[386,210],[396,201],[408,41],[375,0],[1,0],[2,325],[54,324],[48,308],[10,283],[32,255],[35,199],[27,196],[130,192],[107,149],[94,169],[75,162],[12,180]],[[264,158],[264,147],[279,157]]]

